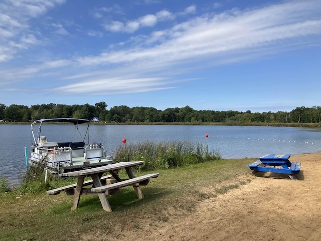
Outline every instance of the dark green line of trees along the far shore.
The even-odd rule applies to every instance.
[[[12,104],[0,103],[1,122],[33,122],[41,118],[84,118],[94,116],[106,123],[235,123],[246,125],[251,123],[320,123],[321,107],[296,107],[290,112],[245,112],[237,110],[215,111],[195,110],[190,106],[158,110],[153,107],[114,106],[107,110],[105,102],[90,104]]]

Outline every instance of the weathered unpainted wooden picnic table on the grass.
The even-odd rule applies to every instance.
[[[47,191],[48,194],[59,194],[61,191],[70,192],[73,190],[73,204],[71,210],[78,207],[80,196],[88,194],[98,195],[101,205],[105,211],[112,212],[109,205],[106,194],[117,193],[121,187],[133,186],[138,198],[144,198],[144,195],[140,189],[140,185],[147,185],[150,178],[155,178],[159,173],[146,174],[140,177],[135,177],[132,168],[137,165],[142,165],[143,161],[137,162],[119,162],[110,164],[107,166],[84,169],[74,172],[67,172],[59,174],[60,177],[78,178],[76,185],[68,185],[66,187],[57,188]],[[118,172],[120,169],[125,168],[128,175],[128,179],[120,179]],[[103,176],[105,172],[109,172],[111,175]],[[85,181],[85,177],[91,176],[92,180]],[[113,183],[102,185],[101,180],[110,178]],[[93,184],[92,188],[84,188],[88,184]],[[75,189],[74,189],[75,187]]]

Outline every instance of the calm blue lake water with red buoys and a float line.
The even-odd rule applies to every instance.
[[[36,126],[38,129],[38,126]],[[80,126],[80,131],[85,126]],[[42,136],[48,141],[74,141],[73,125],[45,125]],[[205,135],[209,137],[206,138]],[[0,173],[18,184],[21,169],[26,167],[25,151],[30,155],[30,125],[0,125]],[[122,144],[143,141],[188,141],[218,149],[223,159],[257,158],[269,153],[291,155],[321,151],[321,130],[290,127],[230,126],[109,126],[92,125],[90,143],[101,142],[107,154]],[[81,141],[78,139],[77,141]],[[86,142],[86,141],[85,141]]]

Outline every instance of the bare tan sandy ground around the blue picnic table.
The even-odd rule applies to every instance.
[[[168,209],[166,220],[138,218],[136,228],[100,233],[98,239],[320,240],[321,153],[291,156],[290,161],[301,162],[296,181],[280,174],[252,176],[246,185],[198,202],[188,215]]]

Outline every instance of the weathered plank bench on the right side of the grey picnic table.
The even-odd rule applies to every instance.
[[[127,180],[122,180],[122,181],[116,182],[116,183],[103,185],[100,187],[94,187],[94,188],[91,188],[91,192],[103,193],[103,192],[110,191],[113,189],[119,189],[119,188],[125,187],[125,186],[147,185],[150,178],[156,178],[158,176],[159,176],[159,173],[150,173],[150,174],[146,174],[146,175],[143,175],[140,177],[134,177],[134,178],[130,178]]]

